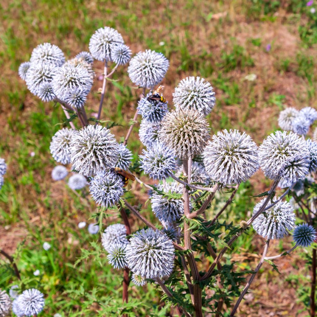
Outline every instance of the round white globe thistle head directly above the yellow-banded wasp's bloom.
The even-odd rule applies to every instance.
[[[151,88],[163,80],[169,65],[170,62],[162,53],[147,49],[131,59],[128,74],[135,85]]]

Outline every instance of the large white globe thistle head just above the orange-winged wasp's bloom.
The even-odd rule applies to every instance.
[[[73,168],[84,176],[101,173],[118,160],[119,145],[110,130],[88,125],[76,131],[69,143]]]

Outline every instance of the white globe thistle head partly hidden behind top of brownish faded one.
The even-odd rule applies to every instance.
[[[194,109],[209,114],[215,106],[216,97],[213,87],[200,77],[186,77],[175,88],[173,102],[176,109]]]

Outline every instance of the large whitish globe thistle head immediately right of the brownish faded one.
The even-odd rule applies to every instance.
[[[204,151],[207,174],[224,185],[240,184],[259,168],[257,146],[238,130],[223,130],[212,137]]]

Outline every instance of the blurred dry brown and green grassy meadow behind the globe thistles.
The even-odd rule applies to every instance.
[[[28,91],[17,74],[20,63],[28,61],[32,49],[43,42],[56,44],[67,57],[73,57],[88,50],[96,29],[113,27],[133,54],[152,49],[170,60],[163,81],[164,97],[170,104],[181,79],[204,77],[216,91],[216,106],[207,117],[212,133],[237,128],[259,145],[278,128],[278,113],[284,107],[316,107],[317,13],[312,8],[317,8],[317,2],[308,4],[299,0],[1,1],[0,157],[6,159],[8,172],[0,191],[0,249],[15,256],[29,286],[46,294],[43,316],[116,316],[122,312],[164,316],[169,307],[161,303],[155,285],[137,288],[131,284],[129,304],[121,304],[121,276],[114,275],[107,264],[100,235],[89,235],[87,227],[78,228],[80,221],[93,222],[89,218],[96,206],[82,192],[76,195],[63,182],[51,180],[55,162],[49,143],[61,128],[64,114],[53,102],[43,103]],[[95,61],[94,67],[98,77],[102,63]],[[107,83],[101,118],[120,125],[112,129],[120,140],[140,90],[129,80],[126,67],[119,68],[113,79],[118,81]],[[95,81],[88,113],[98,109],[101,85]],[[134,132],[128,147],[136,160],[142,145],[137,127]],[[250,213],[258,201],[249,196],[267,190],[268,184],[257,173],[241,186],[226,215],[228,220],[245,219],[245,210]],[[147,200],[137,184],[128,195],[134,203]],[[105,223],[117,219],[117,212],[110,210]],[[45,241],[52,245],[49,251],[42,248]],[[240,237],[233,255],[224,261],[237,261],[237,269],[254,268],[262,245],[262,238],[254,237],[250,229],[249,236]],[[280,252],[291,245],[291,238],[272,245],[272,254],[273,250]],[[281,274],[264,264],[238,316],[307,316],[305,252],[298,250],[278,259]],[[36,270],[40,275],[33,274]],[[0,288],[8,289],[16,282],[12,268],[1,258]]]

